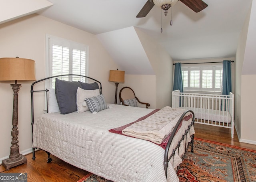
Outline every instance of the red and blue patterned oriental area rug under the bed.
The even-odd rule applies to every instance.
[[[253,182],[256,151],[195,138],[177,174],[180,182]],[[89,173],[78,182],[112,181]]]

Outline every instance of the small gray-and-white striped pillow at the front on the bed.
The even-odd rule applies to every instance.
[[[97,95],[95,97],[90,97],[85,99],[90,111],[93,112],[99,112],[103,109],[107,109],[107,104],[105,101],[104,95]]]

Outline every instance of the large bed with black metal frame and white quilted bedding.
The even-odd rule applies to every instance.
[[[179,181],[176,170],[182,162],[188,144],[193,146],[193,111],[171,107],[145,109],[114,104],[106,104],[106,109],[100,111],[91,111],[90,99],[98,98],[97,95],[85,99],[89,110],[84,112],[50,113],[50,103],[46,101],[46,113],[34,119],[35,94],[45,92],[46,100],[50,96],[49,89],[36,90],[34,86],[60,76],[41,79],[31,85],[33,160],[36,159],[35,150],[39,148],[49,154],[48,162],[51,161],[52,154],[78,168],[115,182]],[[65,76],[78,76],[97,82],[99,93],[102,95],[99,81],[81,75]],[[58,100],[57,95],[59,93],[56,94]],[[76,99],[79,100],[78,95]],[[168,115],[174,118],[174,121],[170,122],[172,127],[166,129],[173,131],[169,131],[162,143],[123,133],[133,131],[136,124],[140,129],[141,123],[145,121],[157,122],[154,118],[159,118],[161,112],[168,112]],[[149,133],[152,134],[151,130]]]

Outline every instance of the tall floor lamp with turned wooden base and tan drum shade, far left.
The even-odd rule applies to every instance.
[[[10,147],[9,158],[2,160],[6,170],[27,162],[27,158],[19,152],[18,145],[18,91],[21,84],[18,81],[35,81],[35,61],[23,58],[0,58],[0,81],[15,81],[11,84],[13,90],[13,111],[12,111],[12,146]]]

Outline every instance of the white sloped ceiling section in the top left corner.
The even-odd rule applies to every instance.
[[[47,0],[1,0],[0,24],[52,6]]]

